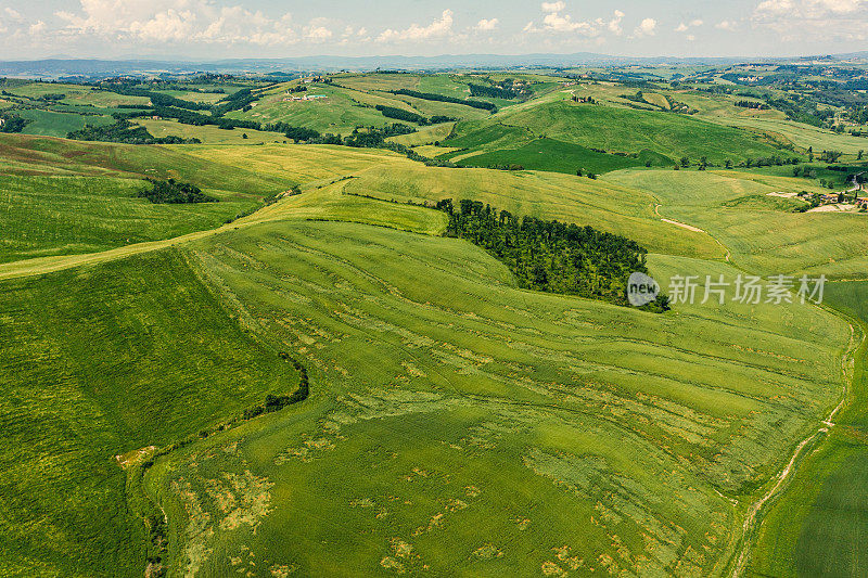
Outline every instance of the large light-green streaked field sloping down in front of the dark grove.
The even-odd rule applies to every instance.
[[[468,243],[360,224],[192,248],[314,389],[151,471],[177,575],[722,574],[728,498],[761,491],[838,394],[847,330],[817,309],[529,293]]]

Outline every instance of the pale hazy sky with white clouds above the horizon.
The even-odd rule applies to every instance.
[[[868,50],[868,0],[0,0],[0,59]]]

